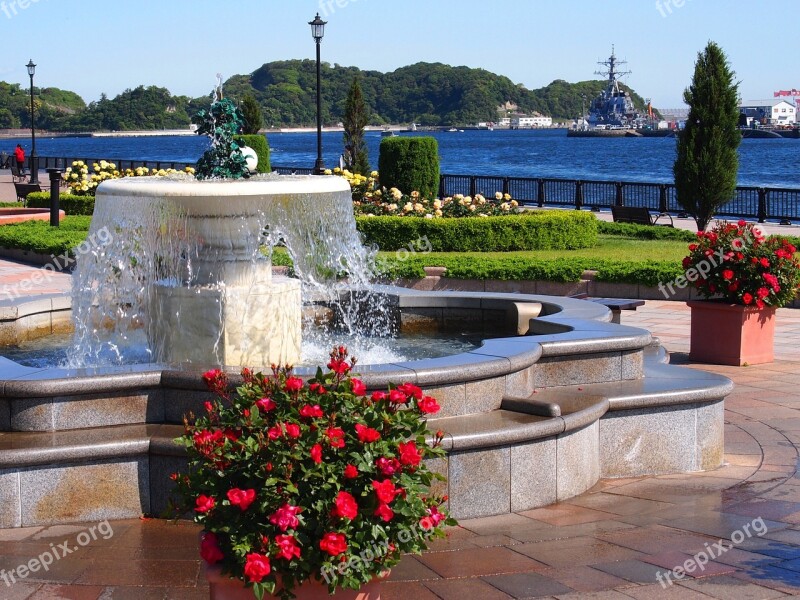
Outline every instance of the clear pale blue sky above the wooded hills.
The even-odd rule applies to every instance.
[[[87,102],[141,84],[199,96],[211,90],[218,72],[227,78],[273,60],[313,58],[307,22],[319,11],[328,21],[322,58],[330,63],[391,71],[442,62],[537,88],[554,79],[596,78],[596,61],[614,44],[632,71],[625,82],[655,106],[671,108],[682,105],[697,52],[708,40],[727,53],[744,99],[800,88],[792,29],[761,15],[760,6],[732,0],[0,0],[0,79],[27,88],[24,65],[32,58],[37,86],[70,89]]]

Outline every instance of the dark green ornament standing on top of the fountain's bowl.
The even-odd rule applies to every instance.
[[[192,117],[198,135],[211,138],[211,148],[197,161],[197,179],[242,179],[250,176],[234,136],[242,130],[242,113],[229,98],[216,100]]]

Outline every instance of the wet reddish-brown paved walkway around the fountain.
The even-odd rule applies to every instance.
[[[0,285],[3,273],[15,268],[20,267],[0,261]],[[700,368],[685,354],[684,304],[650,301],[623,321],[653,331],[673,352],[673,362]],[[424,555],[404,558],[384,584],[383,597],[800,595],[799,333],[800,311],[782,309],[774,363],[702,366],[737,384],[726,401],[725,466],[694,475],[603,480],[567,502],[463,521]],[[8,573],[51,543],[75,546],[88,539],[81,532],[92,525],[0,530],[0,569]],[[197,527],[159,520],[114,521],[110,527],[47,572],[7,586],[0,571],[0,598],[208,597],[197,559]],[[674,583],[662,587],[659,580],[665,582],[667,571],[679,565],[698,568],[680,580],[672,576]]]

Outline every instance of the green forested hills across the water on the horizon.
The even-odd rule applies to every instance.
[[[567,83],[556,80],[528,90],[507,77],[483,69],[417,63],[391,73],[362,71],[323,63],[323,122],[332,125],[344,115],[347,91],[358,77],[372,113],[371,124],[469,125],[497,121],[499,107],[521,113],[539,112],[554,119],[574,119],[605,87],[603,81]],[[209,86],[209,92],[210,90]],[[241,100],[252,93],[264,111],[267,127],[312,126],[316,122],[316,63],[287,60],[266,63],[249,75],[234,75],[225,95]],[[156,86],[125,90],[113,99],[101,96],[88,105],[74,92],[35,88],[36,125],[50,131],[177,129],[188,127],[191,115],[209,103],[209,96],[174,96]],[[643,108],[641,97],[632,93]],[[0,128],[30,126],[30,96],[19,84],[0,82]]]

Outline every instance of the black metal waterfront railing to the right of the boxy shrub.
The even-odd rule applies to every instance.
[[[483,175],[441,175],[441,197],[463,194],[493,197],[496,192],[511,194],[523,206],[603,210],[612,206],[636,206],[653,212],[680,214],[671,183],[639,181],[589,181],[533,177]],[[719,216],[766,220],[800,220],[800,189],[737,187]]]

